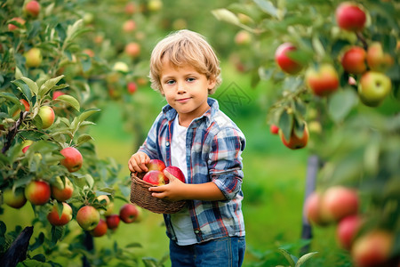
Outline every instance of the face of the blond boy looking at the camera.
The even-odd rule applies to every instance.
[[[215,80],[208,79],[190,65],[175,68],[169,61],[163,61],[160,82],[161,93],[180,118],[180,125],[190,122],[209,109],[208,90],[215,85]]]

